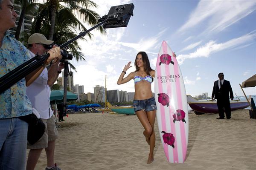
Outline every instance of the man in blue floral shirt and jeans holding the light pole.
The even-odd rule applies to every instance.
[[[29,60],[29,51],[8,31],[15,26],[16,17],[13,0],[0,0],[0,77]],[[58,47],[48,53],[50,56],[44,64],[61,58]],[[40,66],[0,94],[0,169],[25,170],[28,124],[19,117],[32,114],[26,86],[43,69]]]

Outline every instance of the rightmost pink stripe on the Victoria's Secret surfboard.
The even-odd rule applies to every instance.
[[[177,63],[176,58],[173,58],[175,60],[175,63]],[[174,65],[174,72],[175,75],[180,74],[178,65]],[[178,102],[178,108],[183,109],[183,104],[182,104],[182,98],[181,98],[181,89],[180,89],[180,79],[177,78],[177,81],[175,82],[176,84],[176,92],[177,92],[177,102]],[[186,112],[187,114],[187,112]],[[187,116],[187,115],[186,115]],[[187,150],[187,145],[186,145],[186,131],[185,131],[185,125],[183,121],[178,121],[180,124],[180,135],[181,135],[181,144],[182,144],[182,155],[183,155],[183,162],[185,161],[186,158],[186,150]],[[175,122],[176,123],[176,122]],[[188,123],[188,122],[187,122]]]

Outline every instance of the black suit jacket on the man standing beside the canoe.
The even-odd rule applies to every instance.
[[[212,98],[216,98],[216,99],[223,98],[226,100],[229,100],[230,98],[234,98],[230,82],[227,80],[224,80],[219,93],[218,80],[215,81],[212,89]]]

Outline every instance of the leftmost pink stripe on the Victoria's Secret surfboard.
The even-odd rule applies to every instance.
[[[160,58],[159,58],[159,54],[158,54],[158,57],[157,57],[157,63],[160,62]],[[160,69],[160,66],[159,64],[157,64],[157,76],[160,76],[161,75],[161,69]],[[162,93],[163,92],[163,86],[161,84],[160,81],[158,81],[158,92],[159,93]],[[156,98],[157,100],[157,98]],[[160,114],[161,114],[161,124],[162,124],[162,130],[166,130],[166,118],[165,118],[165,111],[164,111],[164,106],[159,104],[160,106]],[[159,108],[157,108],[159,109]],[[162,137],[163,134],[161,134],[160,132],[160,136]],[[163,139],[161,138],[161,140],[163,141]],[[167,160],[169,161],[169,153],[168,153],[168,146],[166,144],[163,143],[163,150],[165,151],[165,154],[166,154],[166,158]]]

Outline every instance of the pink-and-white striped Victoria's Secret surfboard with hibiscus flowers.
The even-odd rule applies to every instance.
[[[155,99],[163,150],[170,163],[184,163],[189,138],[186,89],[172,49],[163,41],[157,56]]]

